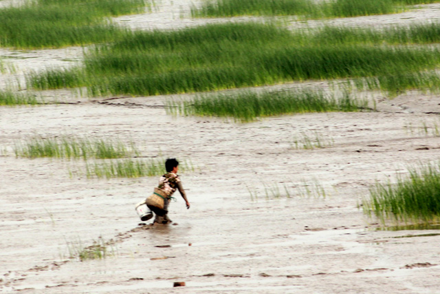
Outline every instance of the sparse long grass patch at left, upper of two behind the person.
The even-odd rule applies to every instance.
[[[126,145],[117,140],[74,138],[74,137],[36,137],[16,143],[16,156],[38,158],[120,158],[137,154],[134,145]]]

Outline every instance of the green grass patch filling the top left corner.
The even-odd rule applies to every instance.
[[[114,41],[109,17],[142,12],[144,0],[39,0],[0,10],[0,46],[46,48]]]

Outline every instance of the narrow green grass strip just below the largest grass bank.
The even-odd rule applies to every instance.
[[[168,101],[170,114],[219,116],[241,122],[258,117],[307,112],[356,112],[366,109],[366,101],[358,101],[348,93],[335,97],[316,90],[289,92],[238,92],[205,94],[189,101]]]

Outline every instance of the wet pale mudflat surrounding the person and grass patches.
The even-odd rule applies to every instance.
[[[179,17],[190,2],[161,5],[118,19],[133,28],[203,22]],[[431,12],[434,19],[438,8],[347,22],[380,25]],[[32,70],[71,66],[82,50],[3,49],[16,71],[1,74],[0,85]],[[375,93],[377,112],[245,124],[166,114],[164,101],[190,95],[43,96],[76,104],[0,108],[1,293],[440,293],[439,227],[377,230],[377,220],[358,207],[376,181],[437,162],[440,96],[410,92],[388,100]],[[318,134],[326,147],[296,148],[304,134]],[[190,160],[196,169],[181,178],[192,206],[172,203],[177,225],[139,225],[135,204],[157,177],[87,179],[83,160],[16,158],[14,143],[35,135],[120,138],[134,141],[146,158]],[[265,188],[276,187],[280,198],[265,196]],[[111,256],[69,258],[99,240]]]

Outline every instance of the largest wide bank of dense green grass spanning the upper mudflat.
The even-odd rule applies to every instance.
[[[412,28],[396,29],[395,34],[408,35]],[[431,42],[429,36],[439,25],[423,28],[429,31],[425,37],[409,34],[404,43]],[[371,41],[362,39],[362,34],[370,34]],[[83,67],[31,74],[28,86],[87,86],[93,96],[156,95],[393,75],[439,65],[436,48],[383,45],[388,40],[401,43],[396,38],[381,32],[344,29],[292,33],[259,23],[133,32],[87,54]]]

